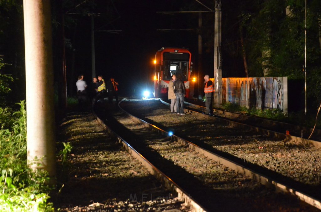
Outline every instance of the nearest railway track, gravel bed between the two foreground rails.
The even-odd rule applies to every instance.
[[[195,143],[202,144],[199,139],[194,138],[194,144],[188,142],[186,137],[190,135],[186,133],[188,127],[185,125],[186,121],[184,119],[180,120],[181,126],[178,126],[178,123],[174,120],[172,124],[175,127],[173,125],[164,126],[162,122],[157,122],[156,126],[155,120],[152,120],[152,116],[148,116],[147,113],[152,113],[156,116],[164,116],[164,114],[159,111],[162,110],[159,105],[156,108],[160,109],[155,110],[155,107],[153,108],[151,104],[152,102],[147,101],[124,101],[120,103],[124,110],[135,113],[136,116],[143,117],[145,121],[147,120],[152,124],[135,118],[125,111],[107,113],[105,116],[101,116],[101,120],[105,120],[104,122],[108,125],[108,128],[119,136],[118,139],[126,141],[127,144],[125,146],[133,147],[149,161],[148,163],[153,164],[153,167],[157,167],[164,173],[167,176],[165,178],[175,182],[174,184],[176,184],[176,188],[179,191],[185,191],[185,194],[180,194],[181,197],[184,196],[183,199],[186,200],[188,196],[192,196],[193,199],[188,201],[193,201],[195,204],[189,207],[198,208],[198,210],[221,211],[291,211],[305,207],[307,207],[305,209],[312,211],[317,210],[317,208],[320,209],[320,201],[317,198],[313,198],[305,192],[300,192],[291,185],[285,185],[278,180],[274,180],[274,178],[252,170],[253,167],[260,169],[260,166],[253,164],[248,166],[248,162],[245,164],[237,163],[234,160],[242,161],[243,159],[238,159],[235,156],[231,157],[232,159],[223,157],[223,151],[217,151],[213,147],[207,150],[206,148],[210,147],[208,144],[205,145],[203,143],[203,147],[195,145]],[[199,116],[195,115],[195,112],[189,111],[189,113],[193,115],[186,117]],[[173,117],[172,114],[169,114],[169,116]],[[170,119],[165,117],[165,119],[167,118]],[[203,117],[203,119],[207,121],[208,117]],[[219,122],[224,126],[227,125],[226,120],[216,121],[215,124]],[[196,118],[195,123],[197,125],[200,124],[200,120]],[[164,130],[160,130],[160,128]],[[169,136],[168,133],[171,128],[174,129],[175,135]],[[185,134],[187,136],[182,138],[184,136],[178,137],[176,136],[177,134]],[[212,151],[217,152],[213,154]],[[226,153],[225,155],[231,156]],[[282,178],[280,174],[274,173],[274,175]],[[254,179],[260,181],[260,183]],[[289,180],[289,177],[286,179]],[[164,180],[161,181],[164,182]],[[261,183],[267,186],[262,186]],[[176,189],[176,191],[178,190]],[[274,190],[287,191],[294,195],[276,194]],[[309,208],[310,206],[302,204],[297,198],[313,207]]]

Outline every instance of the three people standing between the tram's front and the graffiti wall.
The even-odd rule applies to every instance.
[[[205,94],[205,106],[206,114],[212,115],[212,99],[214,92],[214,84],[210,80],[209,75],[204,76],[204,94]],[[177,113],[178,115],[185,115],[184,113],[184,100],[185,100],[185,85],[182,81],[182,75],[172,75],[172,79],[169,81],[168,99],[170,99],[170,112]]]

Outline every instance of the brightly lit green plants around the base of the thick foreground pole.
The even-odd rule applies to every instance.
[[[27,165],[26,103],[17,104],[11,129],[0,129],[0,211],[53,211],[48,173]]]

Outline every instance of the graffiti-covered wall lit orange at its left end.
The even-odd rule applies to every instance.
[[[287,77],[222,78],[222,102],[288,112]]]

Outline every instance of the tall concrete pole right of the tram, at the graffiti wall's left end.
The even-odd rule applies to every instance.
[[[222,25],[222,12],[221,0],[215,1],[215,15],[214,15],[214,103],[219,105],[222,103],[222,69],[221,69],[221,25]]]

